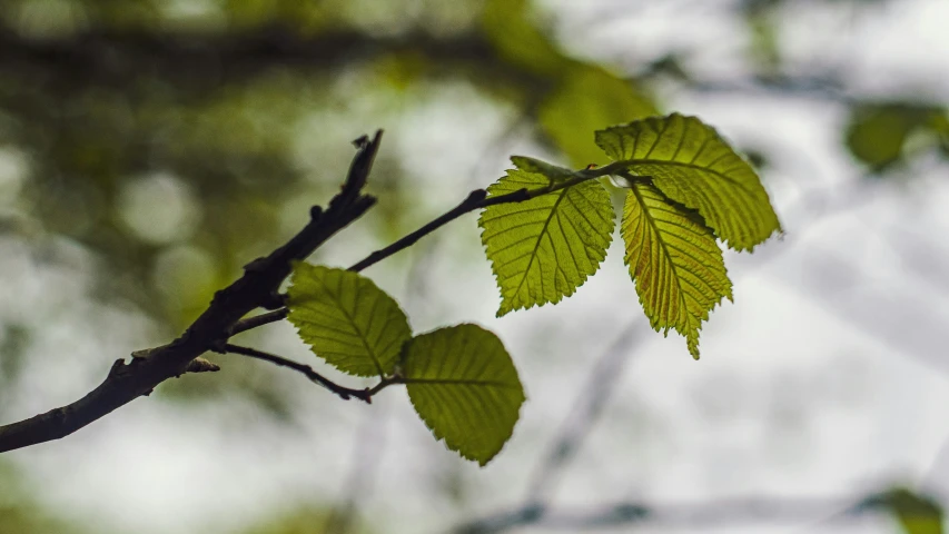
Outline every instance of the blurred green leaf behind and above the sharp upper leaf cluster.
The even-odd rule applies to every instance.
[[[580,66],[543,100],[537,121],[574,166],[585,167],[604,159],[590,139],[591,131],[658,112],[633,82],[599,67]]]

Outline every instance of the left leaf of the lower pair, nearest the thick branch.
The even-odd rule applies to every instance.
[[[392,374],[412,338],[398,304],[356,273],[297,263],[288,294],[288,319],[300,337],[344,373]]]

